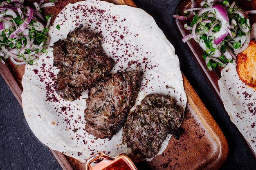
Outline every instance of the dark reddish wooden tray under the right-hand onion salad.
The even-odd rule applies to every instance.
[[[196,0],[196,2],[197,2],[197,4],[200,4],[200,2],[202,2],[202,0]],[[236,0],[236,4],[238,4],[238,6],[242,7],[242,9],[244,9],[244,10],[256,9],[256,0],[251,0],[251,1]],[[187,8],[190,8],[190,7],[191,7],[191,0],[181,0],[180,3],[177,5],[175,14],[184,15],[184,10]],[[249,19],[250,19],[250,25],[252,26],[252,24],[256,22],[256,15],[249,15]],[[184,24],[186,24],[185,20],[174,19],[174,22],[176,23],[177,29],[179,30],[180,34],[182,35],[182,38],[184,36],[190,34],[190,32],[184,28]],[[195,42],[195,40],[193,40],[193,39],[187,41],[186,44],[189,47],[191,54],[195,58],[195,61],[197,62],[200,70],[206,77],[208,84],[211,86],[211,88],[215,92],[216,96],[218,97],[220,104],[224,108],[224,105],[223,105],[221,97],[220,97],[220,88],[218,86],[218,80],[221,77],[222,68],[218,67],[218,68],[216,68],[215,71],[207,70],[207,66],[202,57],[202,55],[204,53],[203,53],[201,47],[199,46],[199,44],[197,42]],[[227,111],[225,111],[225,113],[228,115]],[[243,135],[241,134],[241,132],[238,130],[237,127],[236,127],[236,130],[238,131],[240,136],[243,138],[243,140],[246,142],[247,147],[249,148],[252,155],[256,159],[256,153],[254,152],[254,150],[252,149],[250,144],[245,140],[245,138],[243,137]]]

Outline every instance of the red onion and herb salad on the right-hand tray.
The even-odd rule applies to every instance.
[[[191,34],[182,41],[193,38],[198,42],[210,71],[217,66],[225,67],[228,62],[235,64],[236,55],[249,46],[251,39],[250,23],[245,12],[235,2],[229,4],[227,0],[205,0],[200,8],[194,0],[191,2],[191,9],[184,11],[190,11],[187,16],[173,15],[174,18],[189,21],[184,27]]]

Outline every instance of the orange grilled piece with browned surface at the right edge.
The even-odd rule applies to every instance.
[[[245,51],[237,55],[236,71],[248,86],[256,88],[256,42],[251,40]]]

